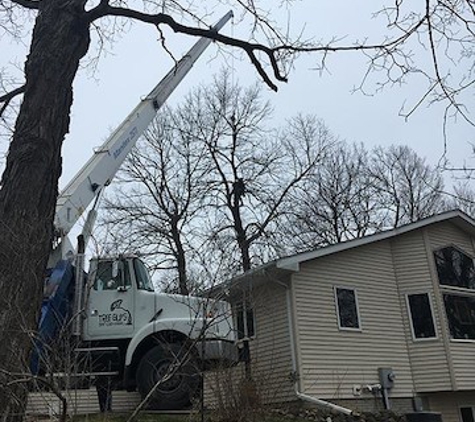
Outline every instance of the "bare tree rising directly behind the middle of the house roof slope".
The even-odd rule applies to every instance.
[[[379,228],[362,145],[338,142],[294,197],[287,225],[295,250],[326,246]]]

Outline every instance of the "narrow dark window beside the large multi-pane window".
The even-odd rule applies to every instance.
[[[432,306],[428,293],[419,293],[407,296],[411,315],[412,333],[414,338],[434,338],[435,325]]]

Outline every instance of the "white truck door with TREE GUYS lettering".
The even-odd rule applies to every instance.
[[[89,339],[130,338],[134,295],[127,260],[98,260],[87,305]]]

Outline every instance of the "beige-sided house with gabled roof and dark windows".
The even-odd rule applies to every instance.
[[[474,257],[475,220],[456,210],[234,279],[226,287],[261,400],[473,422]],[[218,377],[206,382],[222,391]]]

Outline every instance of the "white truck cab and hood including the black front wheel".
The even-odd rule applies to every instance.
[[[146,396],[170,367],[178,368],[156,389],[154,408],[189,403],[201,371],[213,362],[236,362],[231,307],[204,297],[155,292],[136,256],[93,258],[82,315],[82,352],[128,389]]]

